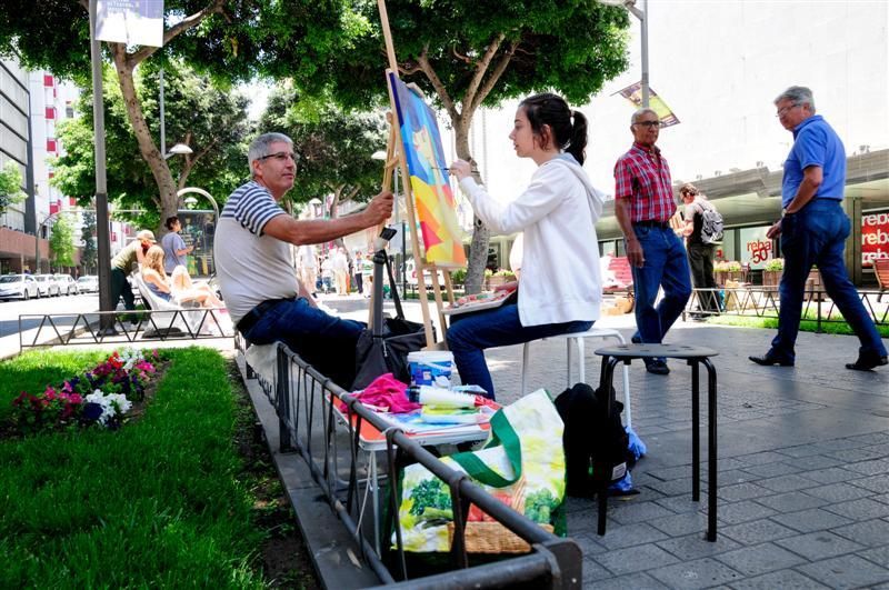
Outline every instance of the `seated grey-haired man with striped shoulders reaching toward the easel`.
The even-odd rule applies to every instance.
[[[220,213],[213,256],[219,287],[231,320],[254,344],[284,342],[343,388],[354,378],[354,344],[362,322],[318,309],[298,283],[290,244],[322,243],[382,223],[392,193],[331,220],[296,220],[278,202],[293,187],[299,154],[282,133],[264,133],[250,144],[252,180],[231,193]]]

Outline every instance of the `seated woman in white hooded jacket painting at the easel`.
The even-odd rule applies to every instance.
[[[581,168],[586,117],[561,97],[536,94],[519,104],[509,139],[519,158],[538,166],[512,201],[489,196],[468,162],[457,160],[450,168],[492,233],[523,232],[518,301],[457,317],[447,336],[462,382],[481,386],[491,398],[485,349],[589,330],[602,298],[595,228],[602,193]]]

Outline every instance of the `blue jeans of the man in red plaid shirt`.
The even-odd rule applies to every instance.
[[[633,226],[633,230],[646,260],[642,268],[632,268],[638,328],[633,338],[659,344],[691,297],[688,256],[682,240],[670,228]],[[656,308],[660,287],[663,287],[663,299]]]

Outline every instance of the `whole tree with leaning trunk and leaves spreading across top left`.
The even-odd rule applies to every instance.
[[[47,69],[86,86],[87,8],[88,0],[4,0],[0,56],[14,56],[27,68]],[[368,28],[346,0],[166,0],[163,16],[163,48],[103,44],[139,153],[158,187],[161,218],[176,213],[177,186],[147,122],[134,84],[137,67],[156,56],[159,66],[181,59],[216,80],[247,80],[284,69],[309,79],[319,74],[329,53],[348,51],[351,37]]]

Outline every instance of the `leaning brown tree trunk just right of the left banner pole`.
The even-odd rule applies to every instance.
[[[127,106],[127,118],[132,126],[142,159],[148,163],[151,174],[154,177],[154,182],[158,184],[161,203],[161,227],[158,228],[158,231],[161,231],[163,229],[163,220],[174,216],[179,210],[176,182],[170,168],[167,166],[167,160],[160,154],[160,150],[151,138],[151,130],[148,128],[142,113],[142,103],[136,93],[136,84],[133,83],[134,66],[130,64],[128,60],[126,47],[121,43],[109,43],[109,46],[114,58],[120,92],[123,94],[123,103]]]

